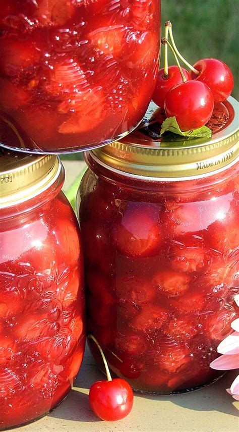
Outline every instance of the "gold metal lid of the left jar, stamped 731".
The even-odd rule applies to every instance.
[[[0,208],[43,192],[62,169],[56,155],[37,156],[0,148]]]

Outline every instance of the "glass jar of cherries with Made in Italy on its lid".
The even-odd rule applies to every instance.
[[[215,107],[210,141],[160,139],[162,112],[152,104],[127,138],[85,153],[78,206],[88,327],[111,370],[138,391],[188,392],[222,373],[209,364],[239,316],[230,102]]]

